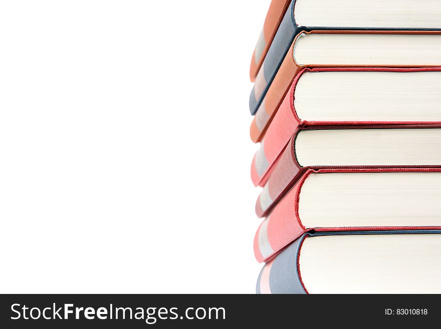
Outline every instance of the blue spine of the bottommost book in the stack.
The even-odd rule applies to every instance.
[[[257,280],[257,293],[307,293],[298,271],[299,253],[304,239],[305,235],[294,241],[274,260],[265,264]]]

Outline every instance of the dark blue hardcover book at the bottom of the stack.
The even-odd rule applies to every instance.
[[[440,293],[441,231],[302,235],[257,280],[257,293]]]

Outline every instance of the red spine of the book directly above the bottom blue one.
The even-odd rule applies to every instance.
[[[259,226],[254,237],[254,253],[259,262],[270,260],[306,232],[297,215],[299,187],[296,184]]]

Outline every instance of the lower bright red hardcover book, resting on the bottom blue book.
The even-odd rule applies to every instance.
[[[309,231],[441,228],[441,169],[308,170],[261,223],[259,262]]]

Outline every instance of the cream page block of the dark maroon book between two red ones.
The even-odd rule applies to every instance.
[[[303,130],[295,152],[301,166],[441,165],[441,129]]]

